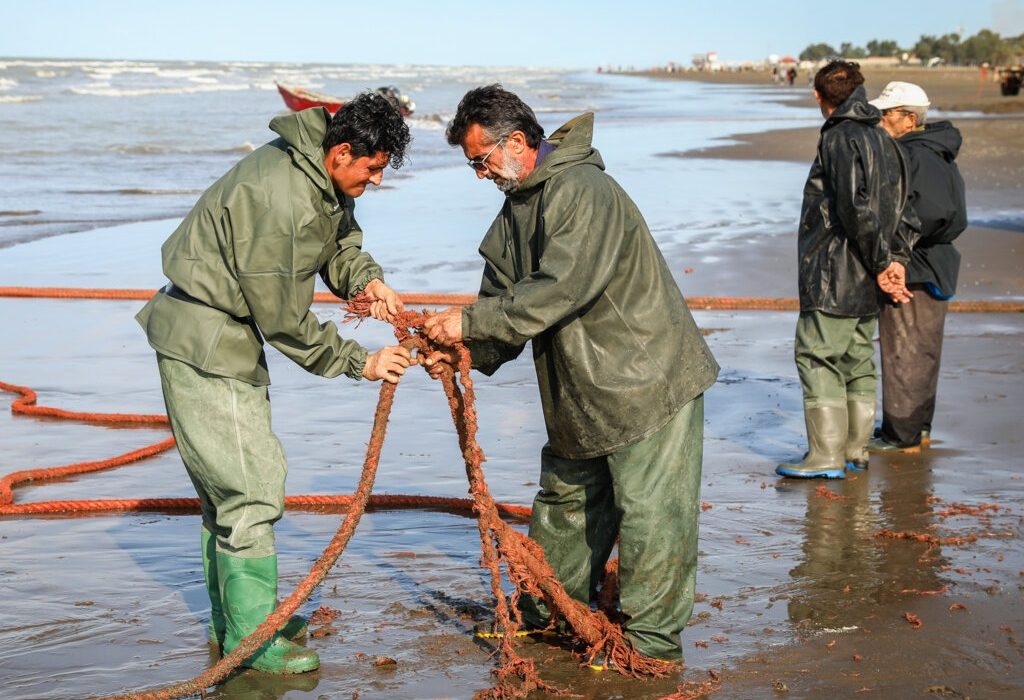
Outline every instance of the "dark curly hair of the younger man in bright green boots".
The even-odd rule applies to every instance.
[[[376,92],[362,92],[341,105],[324,136],[326,154],[339,143],[348,143],[361,158],[384,151],[397,170],[406,162],[406,147],[413,137],[394,105]]]

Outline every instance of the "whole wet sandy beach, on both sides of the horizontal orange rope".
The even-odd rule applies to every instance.
[[[869,92],[886,78],[870,80]],[[948,82],[948,98],[926,87],[937,104],[966,103],[957,95],[970,80]],[[652,99],[645,90],[656,83],[621,78],[609,85]],[[728,88],[740,99],[766,99],[767,92],[767,99],[805,113],[809,106],[806,87],[733,82]],[[639,145],[636,122],[616,122],[614,112],[598,113],[596,145],[648,217],[684,294],[795,296],[801,173],[813,157],[816,129],[727,135],[731,123],[676,120],[672,110],[691,105],[690,93],[655,96],[657,118],[645,125]],[[772,119],[785,123],[784,116]],[[961,163],[972,212],[957,244],[964,254],[957,298],[1020,300],[1022,120],[952,119],[965,134]],[[758,126],[735,125],[748,132]],[[686,146],[700,141],[691,132],[710,128],[725,139],[720,145]],[[499,203],[459,163],[414,172],[360,200],[368,248],[398,289],[475,291],[475,245]],[[706,209],[714,216],[697,225],[690,209],[702,202],[713,203]],[[11,246],[0,250],[0,281],[154,287],[157,253],[171,226],[173,220],[131,223]],[[163,412],[153,354],[132,319],[139,306],[0,299],[0,380],[35,388],[45,405]],[[325,320],[343,315],[333,304],[315,311]],[[687,668],[664,681],[635,681],[581,668],[564,645],[524,642],[524,655],[540,662],[545,680],[594,700],[653,700],[684,680],[707,679],[709,670],[722,675],[716,698],[1021,697],[1024,317],[950,314],[933,446],[916,455],[872,457],[865,473],[820,483],[773,473],[805,449],[793,363],[796,314],[694,309],[694,315],[723,370],[706,397],[705,508],[697,602],[683,633]],[[343,333],[368,347],[391,338],[379,323]],[[377,387],[325,381],[268,355],[289,493],[350,492]],[[475,378],[488,485],[497,499],[518,505],[528,505],[537,490],[536,455],[545,442],[526,355],[493,378]],[[12,415],[13,399],[0,393],[4,473],[99,460],[167,436],[153,428]],[[375,492],[466,492],[443,396],[421,373],[398,388]],[[31,484],[15,500],[189,495],[171,451],[112,472]],[[278,526],[283,595],[309,570],[341,517],[329,509],[286,514]],[[198,540],[199,519],[190,514],[0,518],[6,584],[0,645],[7,650],[0,655],[0,694],[82,698],[153,688],[209,667],[217,655],[205,641]],[[245,671],[207,697],[472,697],[494,683],[495,667],[494,647],[471,633],[490,616],[479,554],[467,518],[368,514],[302,608],[307,615],[321,606],[338,613],[313,625],[307,641],[322,657],[319,671],[284,679]],[[396,663],[376,665],[378,656]]]

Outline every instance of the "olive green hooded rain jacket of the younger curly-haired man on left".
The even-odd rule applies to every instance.
[[[309,309],[317,273],[342,298],[383,278],[360,250],[354,201],[324,167],[330,119],[323,108],[275,118],[281,137],[217,180],[167,239],[171,285],[136,316],[155,350],[261,386],[265,338],[313,374],[361,376],[366,348]]]

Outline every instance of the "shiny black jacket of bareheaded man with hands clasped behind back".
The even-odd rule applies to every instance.
[[[825,120],[800,215],[800,310],[879,312],[876,276],[909,250],[894,245],[907,198],[904,158],[858,87]],[[912,225],[906,223],[905,225]],[[908,246],[913,236],[900,236]]]

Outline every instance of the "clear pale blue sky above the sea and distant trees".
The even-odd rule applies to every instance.
[[[28,0],[4,3],[0,55],[647,67],[986,28],[1024,33],[1024,0]]]

